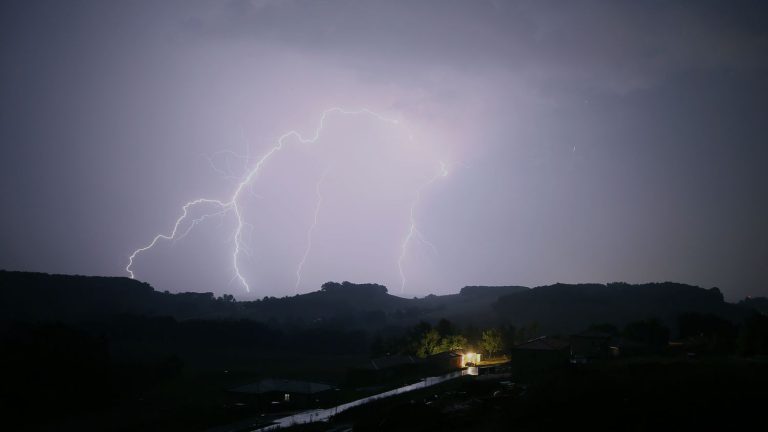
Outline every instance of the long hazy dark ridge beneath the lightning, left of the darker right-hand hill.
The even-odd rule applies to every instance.
[[[50,275],[0,271],[0,319],[64,321],[117,315],[176,319],[250,319],[292,325],[381,327],[454,317],[487,322],[487,312],[503,294],[525,287],[465,287],[460,294],[402,298],[378,284],[328,282],[319,291],[290,297],[235,301],[212,293],[168,293],[124,277]]]

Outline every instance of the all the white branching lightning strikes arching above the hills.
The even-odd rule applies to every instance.
[[[327,109],[323,111],[322,115],[320,116],[319,122],[317,127],[315,128],[312,135],[305,137],[300,132],[296,130],[291,130],[280,137],[278,137],[277,142],[275,145],[270,148],[262,157],[261,159],[258,159],[256,163],[253,165],[253,167],[239,180],[237,183],[235,189],[233,190],[232,194],[229,196],[226,200],[219,200],[219,199],[208,199],[208,198],[198,198],[192,201],[187,202],[182,207],[182,213],[181,216],[179,216],[178,219],[176,219],[173,228],[169,234],[157,234],[151,242],[149,242],[147,245],[140,247],[133,251],[133,253],[128,258],[128,264],[125,267],[126,272],[130,275],[131,278],[135,277],[135,273],[133,270],[133,265],[138,257],[142,252],[146,252],[155,245],[157,245],[158,242],[161,240],[164,241],[175,241],[183,238],[187,234],[189,234],[195,226],[198,224],[204,222],[205,220],[216,217],[216,216],[224,216],[226,214],[231,213],[234,215],[236,220],[235,230],[234,230],[234,249],[232,251],[232,267],[233,267],[233,273],[234,276],[232,280],[237,280],[247,292],[250,292],[250,285],[248,281],[246,280],[245,276],[240,270],[239,263],[240,263],[240,257],[242,253],[248,254],[247,246],[245,245],[243,241],[243,231],[244,228],[248,226],[247,222],[243,219],[243,210],[241,207],[241,196],[244,191],[248,190],[249,185],[251,185],[254,181],[254,179],[258,176],[258,174],[261,172],[261,168],[264,166],[264,164],[277,152],[283,149],[283,147],[290,142],[290,140],[295,140],[300,144],[312,144],[315,143],[321,136],[323,129],[325,127],[325,122],[328,116],[331,114],[340,114],[340,115],[368,115],[372,116],[382,122],[390,123],[393,125],[398,125],[400,122],[398,120],[387,118],[381,114],[378,114],[376,112],[373,112],[368,109],[361,109],[357,111],[349,111],[342,108],[334,107]],[[412,137],[412,134],[409,133],[409,136]],[[242,156],[239,156],[242,158]],[[245,156],[246,161],[249,160],[249,156]],[[209,158],[210,161],[210,158]],[[213,163],[211,162],[211,165]],[[215,166],[214,169],[218,170]],[[321,193],[321,184],[327,174],[323,174],[323,176],[320,178],[316,185],[316,195],[317,195],[317,202],[315,206],[315,212],[314,212],[314,221],[313,224],[310,226],[309,230],[307,231],[307,247],[304,251],[304,255],[302,256],[302,259],[300,260],[297,270],[296,270],[296,288],[298,289],[299,284],[301,283],[301,273],[304,267],[304,264],[306,263],[307,257],[309,256],[309,253],[312,248],[312,233],[314,231],[315,226],[317,225],[318,221],[318,215],[320,213],[320,207],[322,205],[323,197]],[[422,184],[419,188],[416,190],[416,194],[414,197],[414,200],[412,202],[411,208],[410,208],[410,226],[408,228],[408,232],[403,239],[402,245],[401,245],[401,254],[397,260],[398,269],[400,272],[400,278],[401,278],[401,291],[405,289],[405,273],[403,271],[403,260],[405,258],[406,251],[408,249],[408,245],[411,241],[411,239],[416,236],[418,239],[420,239],[425,244],[429,245],[433,250],[436,250],[434,245],[429,243],[426,239],[424,239],[423,235],[419,232],[419,230],[416,228],[416,220],[414,211],[416,206],[418,206],[419,201],[421,199],[421,192],[424,188],[429,186],[430,184],[434,183],[438,178],[444,177],[448,174],[448,171],[446,169],[445,164],[442,162],[440,163],[440,172],[429,179],[427,182]],[[204,212],[201,216],[191,219],[190,211],[194,209],[198,209],[201,206],[211,206],[214,208],[214,211],[207,211]]]

